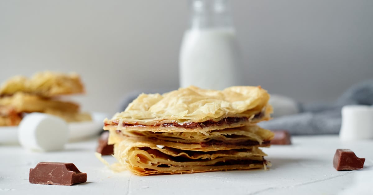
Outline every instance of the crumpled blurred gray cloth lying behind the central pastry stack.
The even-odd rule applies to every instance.
[[[142,90],[141,92],[162,94],[171,90]],[[119,111],[125,110],[141,92],[134,91],[127,95]],[[336,134],[341,129],[341,108],[351,104],[373,104],[373,79],[350,87],[333,103],[298,103],[299,113],[276,117],[259,125],[271,130],[285,129],[293,135]]]

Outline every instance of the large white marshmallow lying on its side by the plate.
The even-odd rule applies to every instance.
[[[18,126],[18,140],[25,149],[53,151],[68,142],[68,125],[59,117],[43,113],[26,115]]]

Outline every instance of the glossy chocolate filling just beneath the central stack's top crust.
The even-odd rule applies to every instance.
[[[253,119],[258,119],[264,117],[264,113],[260,112],[254,116]],[[187,122],[187,123],[156,123],[154,125],[143,125],[143,124],[129,124],[126,122],[123,122],[123,127],[182,127],[185,129],[196,129],[196,128],[205,128],[210,126],[222,126],[223,124],[233,124],[233,123],[240,123],[243,121],[248,121],[249,118],[247,117],[226,117],[219,121],[214,120],[207,120],[200,123],[197,122]],[[118,125],[118,121],[112,121],[114,124]],[[105,126],[110,125],[105,123]]]

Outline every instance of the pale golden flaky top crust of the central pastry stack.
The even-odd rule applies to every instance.
[[[222,117],[253,117],[265,110],[269,94],[260,86],[235,86],[222,91],[190,86],[161,94],[141,94],[111,121],[147,125],[148,122],[217,121]],[[155,124],[155,123],[154,123]]]

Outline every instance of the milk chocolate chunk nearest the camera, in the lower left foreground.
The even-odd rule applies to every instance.
[[[73,185],[87,181],[73,163],[40,162],[30,169],[29,182],[36,184]]]

